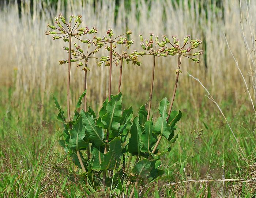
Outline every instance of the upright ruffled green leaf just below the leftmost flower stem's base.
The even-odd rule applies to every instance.
[[[69,147],[78,151],[81,148],[86,148],[87,144],[84,142],[85,127],[83,126],[83,119],[80,116],[75,123],[73,128],[70,130]]]

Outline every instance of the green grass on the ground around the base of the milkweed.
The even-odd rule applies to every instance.
[[[153,101],[160,99],[160,95]],[[25,108],[26,105],[7,102],[12,96],[11,89],[1,90],[0,197],[89,196],[89,187],[79,177],[81,170],[57,143],[61,138],[61,123],[56,120],[53,101],[44,103],[44,113],[40,116],[37,113],[41,112],[40,105],[36,102],[39,98],[31,99],[30,107]],[[65,100],[64,94],[58,97]],[[140,100],[128,99],[124,103],[133,102],[136,112],[143,104]],[[203,98],[196,107],[179,95],[177,101],[182,111],[177,130],[179,137],[172,151],[162,159],[161,169],[165,174],[147,184],[145,197],[254,197],[256,184],[253,182],[185,182],[256,177],[255,122],[248,107],[242,104],[238,109],[233,108],[232,100],[219,104],[240,142],[240,151],[223,117],[210,100]],[[156,102],[153,105],[156,106]],[[164,148],[165,145],[163,141],[161,146]],[[175,182],[184,183],[172,184]],[[170,183],[172,185],[168,185]],[[100,194],[95,197],[101,197]]]

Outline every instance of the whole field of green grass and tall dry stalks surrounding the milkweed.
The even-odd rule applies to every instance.
[[[133,49],[138,51],[141,32],[178,35],[180,40],[187,34],[200,38],[205,51],[201,62],[182,59],[181,63],[174,102],[174,109],[182,111],[178,141],[165,156],[162,169],[166,173],[149,186],[158,183],[163,197],[204,197],[209,192],[211,197],[255,196],[256,1],[60,0],[0,5],[0,197],[85,194],[79,170],[56,141],[61,124],[50,93],[60,98],[65,109],[67,65],[58,61],[67,54],[64,43],[51,40],[45,31],[59,12],[81,14],[84,26],[97,27],[98,35],[105,35],[110,27],[116,35],[131,29]],[[141,62],[141,66],[125,64],[123,70],[124,107],[133,105],[135,112],[147,103],[150,91],[151,69],[147,68],[151,61],[142,58]],[[158,101],[171,98],[176,62],[157,57],[154,114]],[[98,109],[107,96],[108,68],[94,63],[89,67],[87,97],[89,105]],[[199,78],[227,121],[187,73]],[[74,64],[71,76],[73,109],[83,92],[83,72]],[[112,77],[115,93],[117,67]],[[166,186],[187,180],[194,181]],[[148,197],[151,191],[154,187]]]

